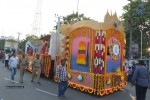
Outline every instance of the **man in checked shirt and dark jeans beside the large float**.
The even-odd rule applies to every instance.
[[[61,65],[56,68],[56,75],[58,79],[58,98],[62,98],[68,87],[66,59],[61,60]]]

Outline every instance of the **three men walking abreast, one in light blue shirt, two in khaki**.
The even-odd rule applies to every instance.
[[[36,58],[32,63],[32,80],[34,81],[35,76],[37,76],[37,83],[40,84],[40,74],[42,68],[42,61],[39,59],[39,54],[36,55]],[[12,53],[12,57],[9,59],[8,63],[9,69],[11,71],[11,80],[14,82],[14,77],[16,75],[17,69],[20,70],[20,83],[23,83],[23,76],[25,69],[29,66],[29,61],[26,58],[25,54],[22,53],[22,56],[19,58],[16,56],[15,51]]]

